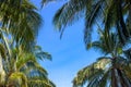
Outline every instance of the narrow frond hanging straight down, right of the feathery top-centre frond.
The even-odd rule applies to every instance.
[[[92,39],[93,26],[96,23],[96,20],[102,15],[102,1],[99,0],[96,4],[92,4],[93,1],[90,1],[91,4],[87,4],[87,9],[85,11],[85,29],[84,29],[84,41],[85,44],[90,44]],[[92,9],[88,10],[92,7]]]

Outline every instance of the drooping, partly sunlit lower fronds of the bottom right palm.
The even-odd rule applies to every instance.
[[[116,73],[112,75],[112,60],[107,57],[79,71],[73,79],[73,87],[130,87],[131,67],[124,58],[116,60]],[[116,84],[116,85],[115,85]]]

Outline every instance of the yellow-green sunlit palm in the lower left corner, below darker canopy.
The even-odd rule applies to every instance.
[[[37,46],[40,49],[40,47]],[[48,79],[47,72],[44,70],[38,60],[50,59],[50,54],[41,50],[37,52],[25,52],[20,47],[12,50],[12,59],[10,65],[7,60],[2,61],[2,76],[0,86],[3,87],[55,87],[55,84]],[[2,52],[1,52],[2,53]]]

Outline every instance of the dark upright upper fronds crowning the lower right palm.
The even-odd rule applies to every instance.
[[[111,57],[117,57],[122,53],[122,48],[126,47],[126,45],[122,45],[118,34],[116,33],[106,33],[106,30],[98,30],[99,33],[99,39],[96,41],[93,41],[91,44],[87,44],[87,49],[94,48],[95,50],[98,50],[99,52],[104,54],[110,54]]]

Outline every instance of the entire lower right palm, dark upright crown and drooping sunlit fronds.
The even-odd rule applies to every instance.
[[[100,38],[87,45],[105,53],[95,63],[79,71],[73,79],[74,87],[130,87],[131,72],[129,57],[123,55],[123,45],[118,35],[100,30]]]

